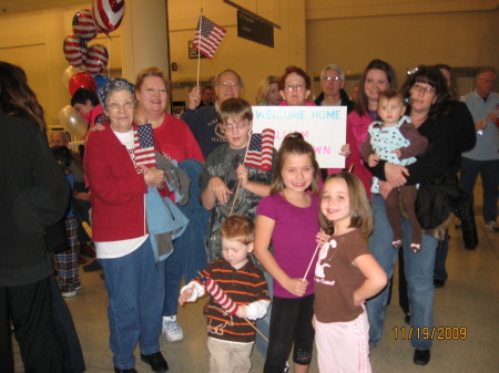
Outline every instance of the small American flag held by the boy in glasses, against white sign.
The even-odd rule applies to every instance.
[[[245,166],[262,170],[272,169],[275,131],[265,128],[261,134],[253,134],[244,159]]]

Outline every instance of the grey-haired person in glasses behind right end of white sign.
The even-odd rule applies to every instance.
[[[328,64],[320,72],[320,89],[323,92],[315,100],[317,106],[347,106],[349,114],[354,103],[343,90],[345,85],[345,72],[336,64]]]

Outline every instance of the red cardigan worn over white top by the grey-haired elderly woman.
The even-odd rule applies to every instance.
[[[91,188],[92,232],[96,242],[147,234],[144,176],[111,127],[93,132],[85,146],[84,169]]]

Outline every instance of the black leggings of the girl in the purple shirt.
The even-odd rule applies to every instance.
[[[314,294],[303,298],[279,298],[272,300],[271,332],[264,373],[282,373],[295,343],[293,361],[308,365],[315,331],[312,327],[314,315]]]

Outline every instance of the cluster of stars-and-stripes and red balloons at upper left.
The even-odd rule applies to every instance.
[[[108,77],[100,75],[109,62],[108,49],[102,44],[88,45],[99,32],[109,35],[123,19],[124,0],[94,0],[92,10],[82,9],[73,17],[73,34],[64,38],[63,51],[70,66],[62,82],[71,95],[78,89],[96,91]],[[69,77],[68,77],[69,75]]]

